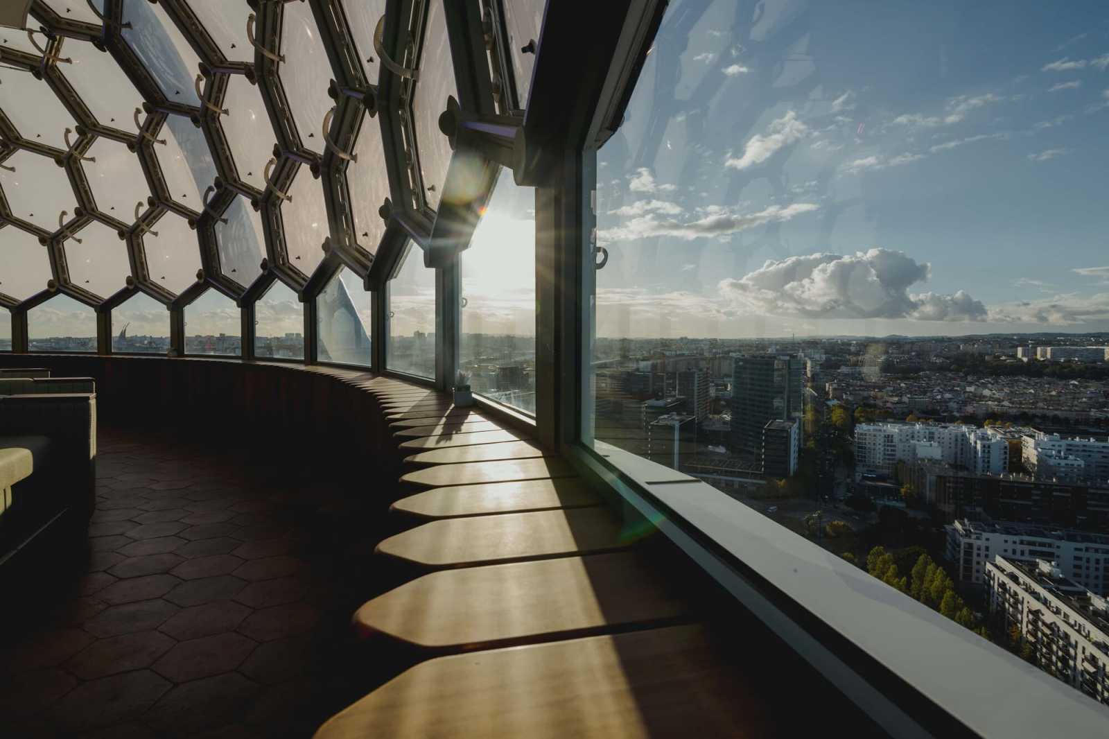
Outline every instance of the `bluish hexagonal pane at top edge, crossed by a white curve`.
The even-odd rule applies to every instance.
[[[170,102],[200,105],[193,83],[200,72],[200,57],[173,24],[161,6],[124,2],[123,40],[146,67]]]

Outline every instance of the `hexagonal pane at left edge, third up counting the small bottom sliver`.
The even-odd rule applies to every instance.
[[[73,217],[77,198],[65,170],[54,160],[19,150],[3,162],[14,172],[0,170],[0,189],[8,199],[11,214],[47,231],[58,230],[58,214]]]

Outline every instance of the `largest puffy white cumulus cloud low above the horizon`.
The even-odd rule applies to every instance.
[[[739,280],[723,280],[721,294],[741,310],[814,318],[913,318],[983,321],[986,307],[964,291],[912,294],[930,266],[904,252],[872,249],[855,254],[807,254],[767,260]]]

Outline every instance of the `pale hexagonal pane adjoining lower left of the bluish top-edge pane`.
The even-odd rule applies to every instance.
[[[62,77],[81,95],[96,121],[134,133],[131,111],[142,105],[142,95],[112,55],[75,39],[65,39],[61,53],[73,59],[72,64],[59,65]]]

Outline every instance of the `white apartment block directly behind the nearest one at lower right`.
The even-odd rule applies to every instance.
[[[986,565],[1000,555],[1014,561],[1052,563],[1098,595],[1109,591],[1109,536],[1008,522],[956,520],[947,530],[947,559],[966,585],[985,583]]]

